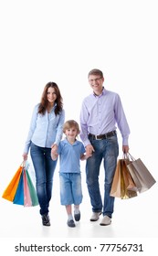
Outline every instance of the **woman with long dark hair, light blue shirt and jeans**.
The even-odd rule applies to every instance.
[[[50,226],[48,208],[57,165],[57,160],[51,159],[51,148],[58,149],[64,121],[65,112],[58,85],[55,82],[48,82],[40,103],[34,108],[23,154],[23,159],[26,161],[30,148],[36,173],[40,215],[44,226]]]

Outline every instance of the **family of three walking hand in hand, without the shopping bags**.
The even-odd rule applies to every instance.
[[[68,214],[68,227],[75,227],[75,221],[80,219],[80,160],[86,160],[86,183],[92,209],[90,221],[97,221],[102,215],[100,225],[111,224],[114,197],[110,196],[110,192],[119,155],[116,130],[118,127],[121,132],[122,152],[128,153],[130,128],[119,94],[103,86],[103,72],[91,69],[88,80],[92,93],[82,101],[79,123],[75,120],[65,122],[63,98],[55,82],[46,84],[41,101],[32,113],[23,159],[26,161],[30,151],[44,226],[50,226],[49,202],[58,157],[60,203]],[[99,176],[102,161],[105,178],[104,195],[101,196]]]

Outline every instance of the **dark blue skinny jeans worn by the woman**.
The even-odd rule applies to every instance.
[[[57,165],[57,161],[51,159],[50,152],[51,148],[31,144],[30,155],[36,173],[37,197],[41,215],[48,213],[53,187],[53,175]]]

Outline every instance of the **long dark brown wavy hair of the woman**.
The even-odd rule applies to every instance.
[[[54,88],[57,94],[57,99],[55,101],[55,103],[57,103],[56,108],[55,108],[55,114],[59,114],[59,112],[62,111],[63,109],[63,99],[61,97],[60,91],[58,89],[58,85],[57,83],[53,82],[53,81],[49,81],[47,82],[47,85],[44,88],[44,91],[42,93],[42,97],[41,97],[41,101],[39,103],[39,107],[38,107],[38,113],[41,114],[45,114],[45,112],[47,111],[47,105],[48,105],[48,101],[47,101],[47,89],[51,87]]]

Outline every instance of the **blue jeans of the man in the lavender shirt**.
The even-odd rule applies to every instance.
[[[108,215],[111,218],[114,208],[114,197],[110,196],[111,184],[119,155],[117,134],[103,140],[90,139],[90,143],[95,152],[87,160],[86,176],[92,211],[102,212],[103,216]],[[105,172],[103,204],[99,184],[102,159]]]

